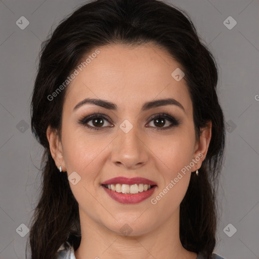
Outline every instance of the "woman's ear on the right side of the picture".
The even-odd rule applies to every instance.
[[[212,122],[209,121],[207,122],[207,125],[201,129],[201,135],[195,144],[195,149],[193,154],[193,161],[196,161],[195,164],[197,164],[197,167],[195,165],[192,166],[192,171],[198,170],[201,167],[202,161],[206,157],[208,146],[211,139],[211,127],[212,127]]]

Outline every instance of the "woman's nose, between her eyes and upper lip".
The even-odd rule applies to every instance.
[[[111,161],[125,169],[137,169],[147,163],[148,144],[137,126],[125,133],[118,128],[118,136],[112,143]]]

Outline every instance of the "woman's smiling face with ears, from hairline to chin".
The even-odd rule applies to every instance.
[[[177,219],[191,172],[200,168],[208,142],[196,142],[190,94],[176,70],[181,66],[165,51],[151,45],[98,50],[82,71],[77,69],[67,89],[61,142],[56,150],[52,146],[52,155],[57,167],[67,171],[81,224],[94,222],[119,234],[130,228],[132,235],[141,235]],[[86,98],[108,104],[78,105]],[[162,99],[175,101],[156,102]],[[105,189],[102,184],[116,177],[145,178],[156,186],[149,197],[145,191]],[[138,187],[123,190],[141,191]]]

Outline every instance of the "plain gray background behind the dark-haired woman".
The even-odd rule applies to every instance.
[[[219,95],[228,132],[219,190],[222,217],[215,252],[226,259],[259,258],[259,2],[167,2],[187,11],[220,68]],[[29,234],[21,237],[26,227],[20,225],[28,226],[37,204],[42,149],[30,131],[29,105],[40,44],[52,25],[55,28],[82,3],[0,0],[1,259],[25,257]],[[24,30],[16,25],[21,16],[29,21]],[[229,16],[237,22],[232,29],[224,25]],[[237,232],[233,235],[234,228]]]

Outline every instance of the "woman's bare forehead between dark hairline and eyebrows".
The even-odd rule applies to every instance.
[[[166,51],[152,45],[109,45],[98,51],[98,55],[88,53],[82,58],[89,58],[89,63],[81,71],[77,69],[68,86],[64,106],[69,110],[84,98],[105,99],[121,110],[141,107],[154,99],[174,98],[186,110],[191,109],[184,77],[177,81],[171,75],[182,66]]]

